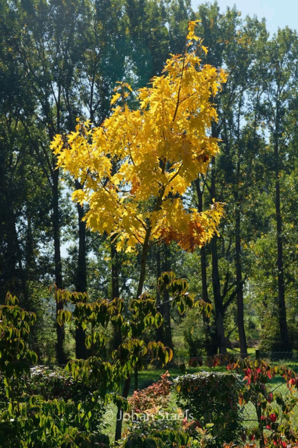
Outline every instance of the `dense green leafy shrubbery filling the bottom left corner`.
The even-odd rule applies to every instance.
[[[92,386],[74,383],[61,369],[30,365],[28,348],[35,315],[6,296],[0,306],[0,447],[83,448],[109,440],[99,431],[102,401]]]

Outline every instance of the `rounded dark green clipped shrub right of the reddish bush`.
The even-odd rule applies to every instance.
[[[238,406],[239,384],[229,372],[198,372],[174,380],[177,405],[210,428],[208,447],[237,443],[242,431],[242,411]],[[199,437],[199,435],[198,435]]]

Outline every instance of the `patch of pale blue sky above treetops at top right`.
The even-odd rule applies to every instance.
[[[194,9],[202,2],[192,0]],[[221,11],[224,11],[226,6],[232,7],[235,4],[242,16],[256,14],[259,19],[265,17],[271,36],[278,27],[289,26],[298,30],[298,0],[218,0],[218,4]]]

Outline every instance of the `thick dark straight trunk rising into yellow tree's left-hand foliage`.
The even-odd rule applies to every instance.
[[[75,189],[82,189],[82,185],[75,180]],[[77,292],[87,291],[87,265],[86,265],[86,225],[82,221],[84,217],[84,207],[76,204],[78,216],[78,259],[76,269],[75,289]],[[80,324],[75,329],[75,357],[86,359],[87,350],[85,346],[85,332]]]

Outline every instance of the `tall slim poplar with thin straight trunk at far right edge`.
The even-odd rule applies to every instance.
[[[292,99],[297,92],[298,40],[289,28],[279,29],[269,42],[265,58],[266,77],[263,78],[263,116],[270,132],[269,147],[272,160],[272,179],[277,235],[278,321],[280,351],[289,351],[284,272],[284,241],[281,183],[285,162],[289,157],[289,136],[285,132]]]

